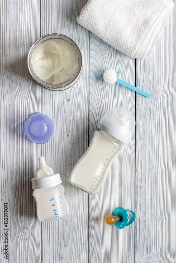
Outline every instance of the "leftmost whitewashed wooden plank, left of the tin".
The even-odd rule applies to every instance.
[[[28,50],[40,36],[40,1],[0,4],[0,262],[40,262],[41,225],[36,218],[31,178],[41,148],[26,138],[23,129],[27,117],[40,111],[40,86],[27,69]],[[4,203],[8,203],[8,260],[3,255]]]

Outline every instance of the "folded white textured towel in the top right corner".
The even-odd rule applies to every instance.
[[[171,0],[88,0],[77,22],[132,58],[148,56],[172,12]]]

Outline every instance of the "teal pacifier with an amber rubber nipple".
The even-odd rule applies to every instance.
[[[132,219],[128,222],[129,216],[127,212],[132,214]],[[108,225],[115,225],[118,228],[124,228],[125,226],[129,226],[135,220],[135,213],[130,209],[123,209],[122,207],[117,207],[112,215],[107,216],[106,223]]]

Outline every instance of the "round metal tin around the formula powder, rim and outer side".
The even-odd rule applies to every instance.
[[[59,38],[62,40],[67,41],[69,44],[72,45],[72,47],[75,49],[77,56],[78,56],[78,66],[77,69],[74,73],[74,75],[66,80],[63,83],[59,83],[59,84],[51,84],[51,83],[47,83],[44,80],[40,79],[32,66],[32,56],[34,54],[35,49],[38,47],[38,45],[40,45],[42,42],[48,40],[48,39],[52,39],[52,38]],[[39,39],[37,39],[34,44],[31,46],[29,53],[28,53],[28,57],[27,57],[27,65],[28,65],[28,69],[30,74],[32,75],[32,77],[35,79],[36,82],[38,82],[41,86],[47,88],[47,89],[51,89],[51,90],[63,90],[63,88],[67,89],[70,88],[74,85],[74,81],[77,80],[77,78],[79,78],[79,75],[81,73],[81,69],[82,69],[82,54],[81,51],[78,47],[78,45],[69,37],[62,35],[62,34],[47,34],[45,36],[40,37]],[[76,82],[76,81],[75,81]],[[68,87],[70,86],[70,87]]]

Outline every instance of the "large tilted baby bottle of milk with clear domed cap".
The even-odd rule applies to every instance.
[[[135,117],[117,107],[109,110],[99,121],[91,143],[75,164],[70,183],[88,194],[95,194],[103,185],[113,160],[128,143],[135,130]]]

